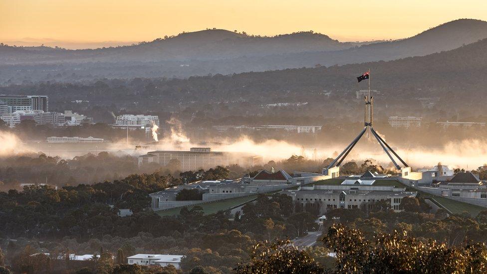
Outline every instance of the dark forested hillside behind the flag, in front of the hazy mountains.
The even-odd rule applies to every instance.
[[[451,111],[448,107],[472,109],[487,99],[484,80],[487,75],[487,39],[450,51],[387,62],[188,79],[103,79],[87,84],[12,85],[0,87],[0,93],[22,94],[28,91],[62,98],[63,101],[88,100],[118,106],[134,102],[136,94],[138,104],[146,111],[164,106],[184,106],[193,100],[198,100],[200,105],[217,102],[248,102],[254,105],[310,102],[323,106],[328,99],[320,94],[327,90],[332,97],[338,96],[332,100],[333,105],[343,103],[345,107],[346,101],[338,98],[349,100],[346,92],[367,88],[367,83],[357,84],[355,77],[368,68],[371,69],[372,88],[380,90],[382,98],[389,97],[389,107],[407,107],[408,104],[417,104],[421,97],[439,97],[442,100],[439,105]],[[416,100],[411,101],[411,98]],[[311,105],[306,109],[312,109]]]

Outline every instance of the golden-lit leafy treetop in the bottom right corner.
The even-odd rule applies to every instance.
[[[369,242],[360,230],[334,225],[322,238],[336,251],[338,273],[485,273],[487,248],[473,244],[447,248],[404,233],[380,234]]]

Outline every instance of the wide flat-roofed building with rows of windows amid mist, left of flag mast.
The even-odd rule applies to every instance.
[[[210,169],[216,166],[240,165],[251,167],[259,165],[260,156],[253,156],[242,152],[211,151],[211,148],[191,148],[190,151],[150,151],[139,156],[139,165],[157,163],[169,165],[171,160],[178,160],[181,171]]]

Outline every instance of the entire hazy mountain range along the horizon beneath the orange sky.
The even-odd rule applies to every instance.
[[[388,61],[447,51],[484,38],[487,38],[486,21],[459,19],[410,38],[363,45],[339,42],[312,32],[259,37],[209,29],[138,45],[99,49],[0,46],[0,63],[17,64],[0,65],[0,84],[105,77],[182,78]]]

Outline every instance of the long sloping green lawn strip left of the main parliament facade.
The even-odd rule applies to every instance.
[[[231,209],[231,208],[236,207],[238,205],[245,204],[245,203],[250,202],[256,198],[257,198],[256,194],[255,195],[249,195],[249,196],[243,196],[243,197],[236,197],[236,198],[230,198],[230,199],[225,199],[225,200],[220,200],[220,201],[206,202],[206,203],[202,203],[202,204],[191,205],[191,206],[188,206],[188,209],[191,210],[194,206],[200,206],[203,208],[203,212],[205,213],[205,215],[209,215],[209,214],[217,213],[221,210]],[[168,209],[168,210],[160,210],[160,211],[156,211],[156,213],[159,214],[160,216],[178,215],[179,212],[181,211],[181,208],[183,208],[183,207],[172,208],[172,209]]]

